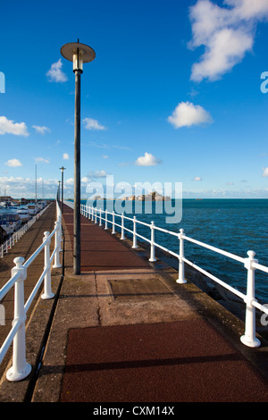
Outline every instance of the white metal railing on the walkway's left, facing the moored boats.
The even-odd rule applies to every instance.
[[[54,237],[54,251],[50,256],[51,239]],[[60,264],[59,253],[62,241],[62,213],[60,206],[56,202],[56,222],[54,223],[54,231],[44,233],[43,243],[38,249],[29,256],[27,261],[22,256],[14,259],[15,266],[12,269],[12,277],[7,281],[0,290],[0,301],[6,293],[14,286],[14,318],[12,329],[8,333],[4,343],[0,349],[0,364],[2,363],[7,350],[13,343],[13,365],[8,369],[6,378],[11,382],[21,381],[26,378],[30,371],[31,365],[26,361],[26,340],[25,340],[25,322],[29,307],[37,295],[37,292],[44,281],[44,293],[41,298],[54,298],[51,290],[51,268],[58,268]],[[38,282],[32,290],[27,302],[24,304],[24,281],[27,279],[27,269],[33,263],[36,257],[44,249],[44,271],[40,275]],[[54,262],[54,264],[53,264]]]

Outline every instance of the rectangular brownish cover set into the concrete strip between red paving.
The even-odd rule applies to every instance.
[[[109,280],[114,300],[172,298],[174,295],[157,277],[151,279]]]

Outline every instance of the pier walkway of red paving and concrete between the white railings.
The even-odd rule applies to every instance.
[[[149,263],[146,249],[132,249],[130,240],[83,216],[81,274],[74,276],[72,221],[64,205],[64,277],[54,282],[38,371],[22,382],[2,380],[0,400],[268,401],[262,338],[262,347],[246,348],[239,340],[244,323],[192,282],[177,284],[168,261]],[[44,303],[29,336],[42,311]]]

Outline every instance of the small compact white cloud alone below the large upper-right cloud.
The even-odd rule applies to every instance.
[[[168,122],[176,128],[190,127],[204,122],[212,122],[210,113],[200,105],[194,105],[191,102],[180,102],[172,115],[168,117]]]

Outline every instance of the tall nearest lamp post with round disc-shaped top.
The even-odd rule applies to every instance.
[[[83,63],[95,59],[95,51],[85,44],[70,42],[61,48],[61,54],[72,62],[75,74],[75,111],[74,111],[74,209],[73,209],[73,271],[80,274],[80,76]]]

